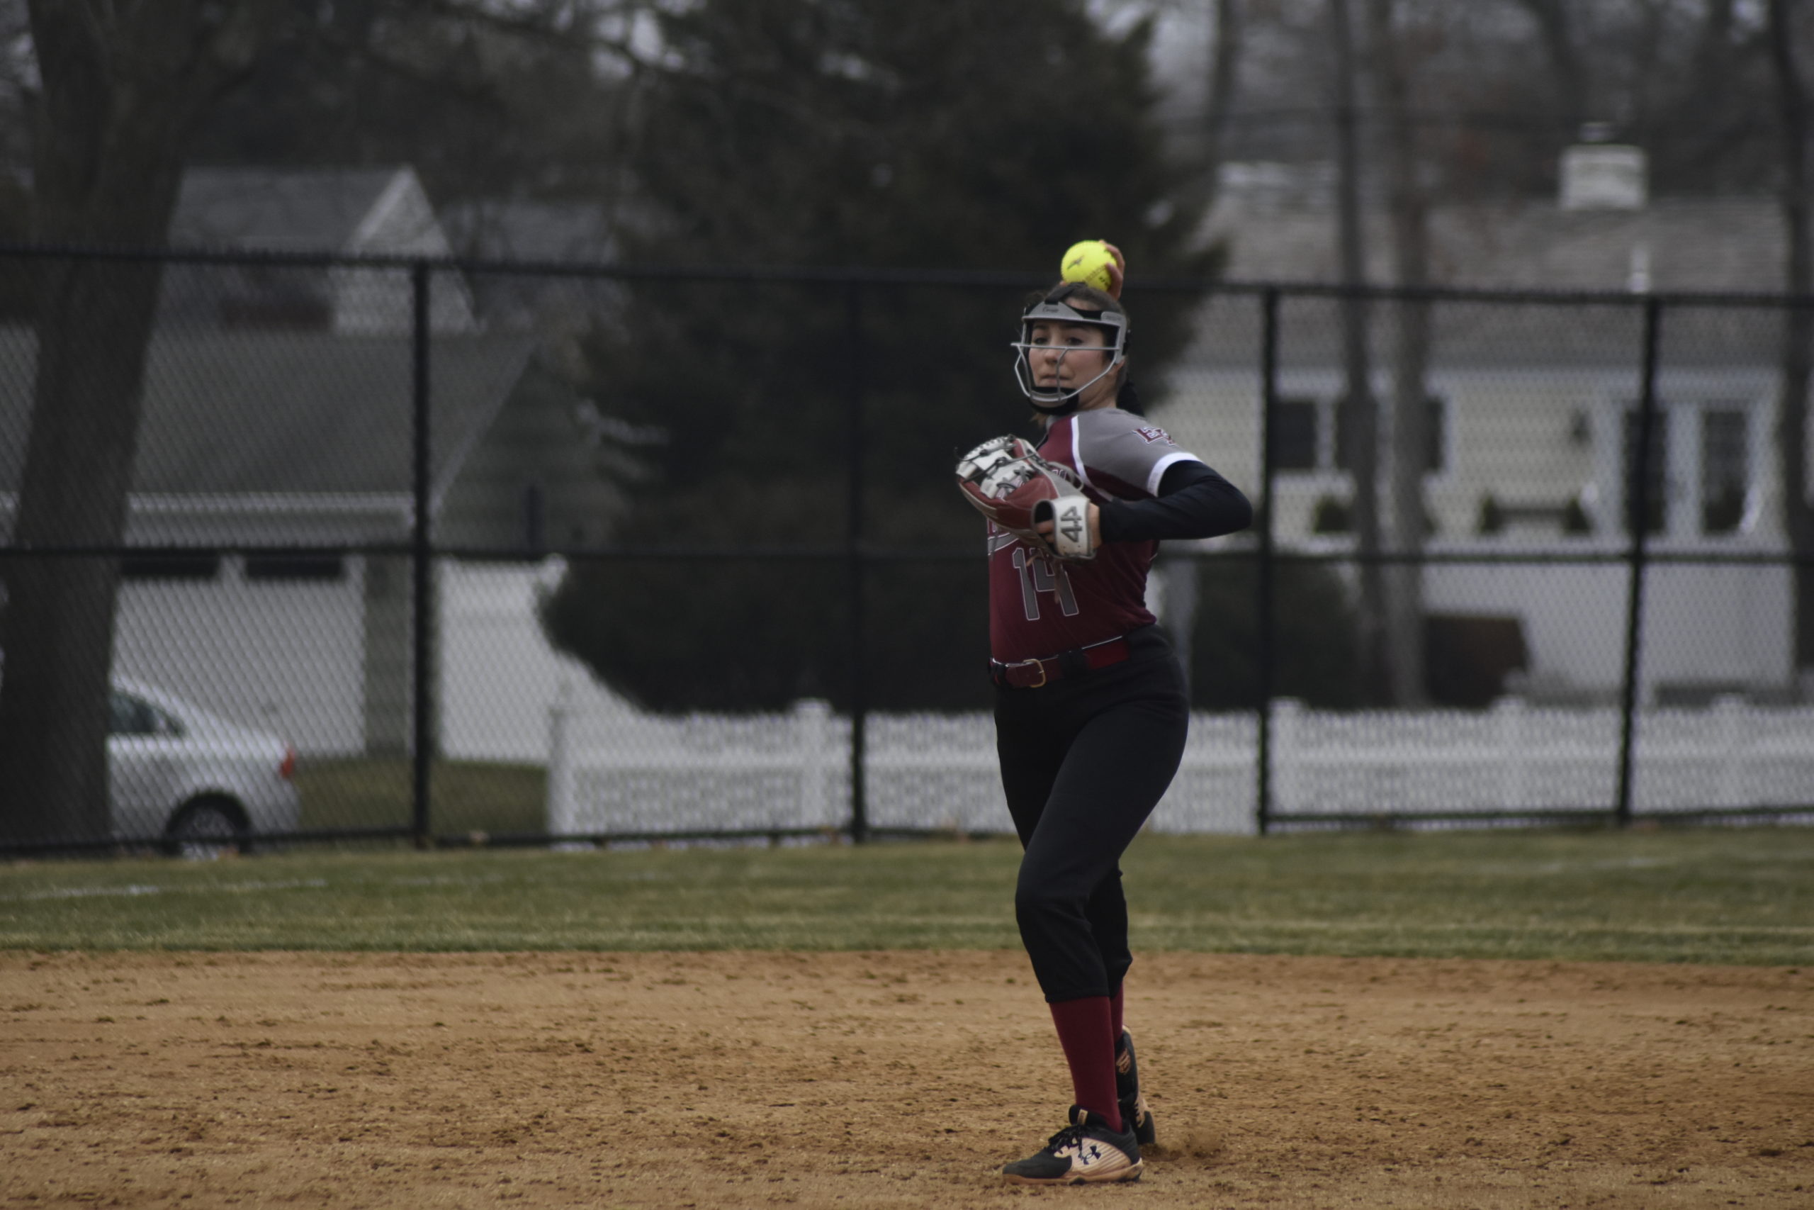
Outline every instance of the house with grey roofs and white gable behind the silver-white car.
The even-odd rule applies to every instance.
[[[444,254],[415,172],[196,169],[172,245]],[[114,666],[305,755],[410,735],[408,270],[172,263],[149,348]],[[443,544],[599,541],[613,495],[537,334],[430,290],[430,493]],[[27,455],[34,334],[0,328],[0,541]],[[356,548],[346,555],[285,546]],[[263,548],[263,550],[259,550]]]

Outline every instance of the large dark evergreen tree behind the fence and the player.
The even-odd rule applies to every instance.
[[[1136,370],[1186,337],[1206,278],[1152,114],[1148,27],[1079,0],[704,0],[662,16],[631,171],[648,263],[1052,272],[1108,238],[1136,281]],[[1019,292],[925,285],[629,287],[588,343],[599,408],[669,443],[635,490],[628,544],[844,541],[849,401],[862,383],[871,544],[974,546],[954,454],[1029,415],[1009,341]],[[860,341],[853,330],[860,327]],[[865,581],[869,700],[983,700],[981,557],[887,562]],[[546,602],[553,640],[657,709],[773,709],[847,686],[844,571],[829,561],[579,561]]]

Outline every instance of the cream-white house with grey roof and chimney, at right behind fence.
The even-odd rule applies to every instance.
[[[1627,149],[1629,151],[1629,149]],[[1629,169],[1631,156],[1620,160]],[[1208,230],[1226,239],[1235,281],[1337,278],[1335,214],[1317,174],[1243,165],[1226,174]],[[1640,395],[1642,299],[1653,290],[1778,288],[1781,225],[1767,198],[1645,200],[1571,189],[1558,201],[1439,207],[1435,276],[1444,285],[1627,292],[1633,305],[1439,303],[1428,374],[1433,444],[1424,497],[1446,555],[1624,551],[1624,484]],[[1391,279],[1386,216],[1368,214],[1368,272]],[[1137,303],[1136,303],[1137,305]],[[1371,307],[1371,376],[1391,394],[1395,308]],[[1651,550],[1783,551],[1774,461],[1780,316],[1682,307],[1663,314]],[[1259,486],[1259,301],[1223,294],[1156,412],[1188,448]],[[1339,424],[1341,316],[1322,298],[1281,307],[1277,535],[1348,550],[1328,532],[1353,483]],[[1382,446],[1384,446],[1382,439]],[[1319,519],[1322,524],[1319,524]],[[1431,613],[1522,624],[1526,686],[1605,697],[1624,669],[1622,566],[1431,566]],[[1798,693],[1790,584],[1772,566],[1654,566],[1647,581],[1642,689],[1707,700],[1718,691]]]

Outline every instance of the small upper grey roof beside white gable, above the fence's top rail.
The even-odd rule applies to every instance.
[[[346,250],[386,189],[410,169],[189,169],[171,243]]]

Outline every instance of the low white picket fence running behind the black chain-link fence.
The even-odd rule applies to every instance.
[[[658,718],[550,711],[548,829],[555,834],[836,829],[849,820],[847,718],[824,702],[755,717]],[[1252,715],[1199,713],[1152,827],[1252,833]],[[1616,709],[1273,713],[1273,811],[1353,815],[1611,809]],[[871,715],[873,827],[1012,831],[989,715]],[[1634,809],[1814,802],[1814,707],[1647,709]],[[1809,813],[1814,816],[1814,809]]]

